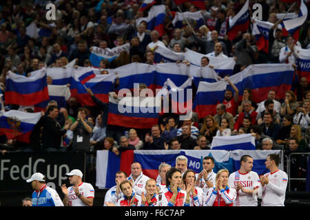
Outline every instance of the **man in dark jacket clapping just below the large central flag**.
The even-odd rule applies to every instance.
[[[165,150],[165,137],[161,136],[161,129],[158,124],[152,126],[152,136],[145,135],[143,150]]]

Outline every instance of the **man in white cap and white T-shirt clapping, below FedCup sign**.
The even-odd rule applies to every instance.
[[[92,206],[94,203],[94,187],[92,184],[87,184],[82,181],[83,173],[81,170],[74,169],[65,175],[69,176],[70,184],[72,186],[61,186],[61,190],[65,197],[63,197],[63,204],[65,206]]]

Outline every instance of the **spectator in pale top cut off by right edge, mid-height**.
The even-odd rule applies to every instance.
[[[297,113],[293,117],[294,124],[299,124],[302,129],[308,129],[310,124],[310,100],[304,100],[302,107],[297,108]]]

